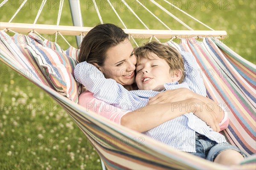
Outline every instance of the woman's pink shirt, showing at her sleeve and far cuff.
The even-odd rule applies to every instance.
[[[103,102],[102,100],[93,97],[93,94],[89,91],[84,91],[79,95],[78,104],[86,108],[86,111],[93,111],[113,122],[118,123],[119,125],[121,124],[122,116],[124,116],[128,112],[131,112],[123,111],[120,108],[116,108],[106,102]],[[227,112],[224,111],[224,118],[219,123],[221,130],[226,129],[228,124],[229,118]]]

